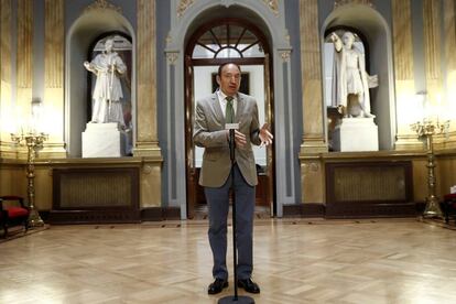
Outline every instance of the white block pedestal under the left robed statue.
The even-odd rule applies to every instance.
[[[127,134],[117,122],[87,123],[83,132],[83,158],[121,158],[126,155]]]

